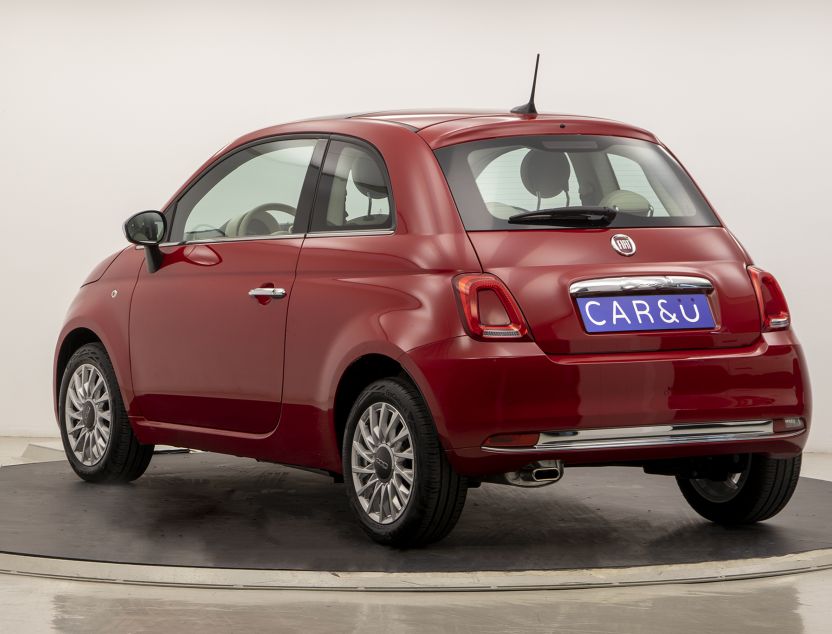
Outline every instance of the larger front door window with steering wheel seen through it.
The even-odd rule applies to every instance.
[[[295,227],[317,139],[255,145],[211,168],[176,206],[170,239],[216,240],[303,233]]]

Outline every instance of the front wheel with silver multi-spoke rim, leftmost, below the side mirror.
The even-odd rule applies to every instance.
[[[136,440],[113,364],[100,343],[81,346],[70,357],[61,378],[58,417],[64,451],[81,479],[131,482],[150,464],[153,445]]]

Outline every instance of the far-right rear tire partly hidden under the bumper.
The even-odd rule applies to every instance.
[[[800,477],[802,455],[770,458],[748,457],[740,474],[724,481],[677,477],[688,504],[705,519],[736,526],[762,522],[777,515],[794,493]]]

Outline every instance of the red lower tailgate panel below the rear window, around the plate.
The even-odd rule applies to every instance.
[[[611,246],[612,236],[622,233],[636,246],[633,256],[622,256]],[[748,346],[760,336],[759,309],[745,258],[722,227],[471,231],[468,235],[483,270],[506,284],[532,336],[548,354],[732,348]],[[576,283],[586,280],[633,278],[638,283],[668,276],[702,278],[712,289],[600,290],[592,297],[620,297],[626,319],[638,328],[628,297],[702,294],[713,316],[712,327],[679,328],[674,316],[667,314],[667,330],[589,332],[591,322],[581,313],[580,295],[570,293],[573,285],[585,288]],[[655,306],[651,308],[655,325],[664,326]],[[601,306],[592,306],[589,314],[611,325],[610,314],[603,313]],[[626,319],[617,321],[626,327]],[[650,323],[646,315],[643,321],[645,326]]]

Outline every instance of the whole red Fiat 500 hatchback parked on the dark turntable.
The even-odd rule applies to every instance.
[[[448,534],[481,482],[675,476],[779,512],[810,418],[783,293],[649,132],[387,112],[277,126],[125,224],[55,355],[70,464],[155,444],[313,468],[369,535]]]

